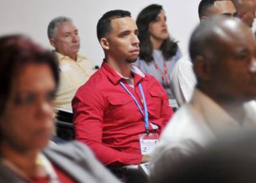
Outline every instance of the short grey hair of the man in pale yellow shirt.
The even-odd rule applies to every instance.
[[[56,36],[57,27],[64,22],[72,22],[72,19],[61,16],[51,20],[47,28],[47,35],[49,39]]]

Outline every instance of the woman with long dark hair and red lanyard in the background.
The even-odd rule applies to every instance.
[[[177,42],[168,34],[163,7],[151,4],[138,15],[140,56],[136,65],[163,85],[169,98],[174,98],[170,89],[170,74],[181,56]]]

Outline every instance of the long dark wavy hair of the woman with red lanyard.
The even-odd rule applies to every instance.
[[[148,25],[150,22],[154,22],[157,15],[163,10],[163,7],[158,4],[151,4],[144,8],[138,15],[136,24],[139,29],[140,40],[140,59],[150,63],[153,58],[153,45],[150,41],[150,33],[148,32]],[[169,60],[172,56],[175,56],[178,49],[178,44],[170,36],[164,40],[160,47],[164,60]]]

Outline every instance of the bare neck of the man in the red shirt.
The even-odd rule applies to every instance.
[[[111,68],[113,68],[116,72],[121,74],[123,77],[132,78],[131,75],[131,63],[127,63],[127,61],[115,60],[111,57],[106,57],[106,62],[109,64]]]

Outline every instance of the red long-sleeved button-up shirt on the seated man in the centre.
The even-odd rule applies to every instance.
[[[150,123],[159,127],[158,134],[173,115],[168,96],[161,84],[150,75],[132,72],[134,89],[106,61],[77,90],[72,100],[76,139],[85,143],[104,165],[140,164],[139,134],[145,133],[145,123],[138,106],[121,86],[122,81],[136,97],[144,111],[138,83],[145,94]],[[151,125],[149,125],[152,131]]]

